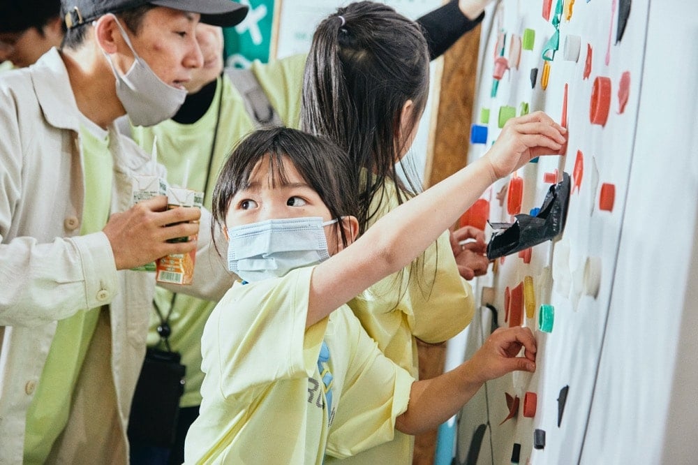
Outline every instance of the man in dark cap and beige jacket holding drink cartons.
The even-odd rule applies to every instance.
[[[130,269],[197,247],[186,292],[230,286],[206,212],[165,211],[164,196],[129,208],[133,176],[153,168],[113,123],[172,117],[202,65],[196,24],[232,26],[246,10],[63,0],[63,49],[0,75],[0,463],[127,463],[155,284]]]

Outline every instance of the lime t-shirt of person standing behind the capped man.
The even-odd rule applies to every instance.
[[[260,86],[264,89],[269,102],[279,113],[284,124],[297,127],[299,124],[301,91],[305,56],[297,55],[269,64],[255,61],[252,70]],[[223,85],[221,85],[221,82]],[[218,105],[221,106],[221,118],[218,122],[216,147],[211,168],[211,144],[218,117]],[[154,136],[158,138],[158,161],[168,169],[168,182],[181,184],[187,158],[190,160],[188,187],[205,191],[204,206],[211,207],[218,171],[228,157],[235,143],[254,131],[252,119],[244,107],[244,100],[234,89],[228,77],[218,78],[218,88],[214,101],[206,114],[194,124],[179,124],[172,119],[151,127],[134,126],[132,137],[138,145],[150,152]],[[208,182],[206,179],[208,177]],[[204,184],[207,184],[205,186]],[[155,302],[165,317],[172,307],[172,293],[163,288],[156,288]],[[201,335],[206,320],[213,310],[215,302],[200,300],[179,293],[174,298],[174,308],[168,321],[172,335],[172,350],[181,353],[181,363],[186,366],[186,383],[180,406],[190,407],[201,404],[201,383],[204,378],[201,366]],[[148,334],[148,346],[157,346],[160,337],[157,327],[160,319],[157,313],[151,313],[151,326]]]

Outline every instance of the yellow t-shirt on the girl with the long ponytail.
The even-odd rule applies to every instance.
[[[383,196],[378,193],[371,202],[371,211],[378,208],[378,213],[369,221],[369,227],[398,205],[395,186],[387,181]],[[454,337],[472,320],[475,301],[470,284],[458,272],[449,232],[444,232],[415,263],[413,268],[408,265],[404,272],[378,281],[348,305],[385,356],[418,378],[415,337],[432,344]],[[341,463],[410,464],[413,445],[414,436],[395,431],[393,441]],[[325,464],[332,463],[331,457],[325,460]]]

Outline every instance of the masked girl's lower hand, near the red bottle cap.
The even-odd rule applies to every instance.
[[[523,357],[517,355],[524,348]],[[535,338],[527,327],[500,327],[468,360],[474,381],[484,383],[510,371],[535,371]]]

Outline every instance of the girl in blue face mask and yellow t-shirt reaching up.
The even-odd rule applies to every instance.
[[[204,330],[203,399],[185,462],[349,457],[389,441],[394,429],[436,427],[485,381],[534,371],[533,334],[513,327],[447,374],[415,381],[346,303],[410,263],[489,184],[559,150],[564,132],[542,112],[510,120],[480,161],[389,212],[355,244],[346,154],[290,128],[244,139],[221,170],[212,206],[228,234],[229,268],[243,281]]]

